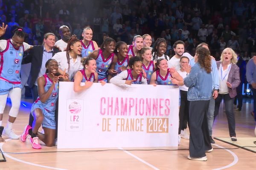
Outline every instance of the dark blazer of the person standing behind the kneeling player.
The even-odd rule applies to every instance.
[[[38,74],[43,60],[43,51],[44,45],[34,45],[34,47],[29,51],[29,54],[27,54],[22,59],[22,64],[27,64],[31,62],[31,70],[27,82],[30,88],[34,86],[35,80],[38,78]],[[54,56],[54,54],[58,52],[60,52],[60,50],[53,47],[52,56]]]

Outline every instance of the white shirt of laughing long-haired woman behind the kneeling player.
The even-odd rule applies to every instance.
[[[77,57],[76,61],[73,62],[73,59],[70,57],[70,68],[68,68],[68,63],[67,63],[67,51],[62,51],[56,53],[52,59],[56,59],[58,62],[58,67],[64,71],[66,69],[66,73],[69,74],[69,79],[72,80],[73,77],[76,74],[76,71],[81,70],[83,67],[81,63],[81,57]]]

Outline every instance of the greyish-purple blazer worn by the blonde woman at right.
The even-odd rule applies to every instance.
[[[221,61],[217,61],[217,68],[220,68]],[[228,93],[231,98],[236,96],[236,88],[240,84],[239,67],[236,64],[231,64],[230,72],[227,81],[231,83],[232,88],[228,88]]]

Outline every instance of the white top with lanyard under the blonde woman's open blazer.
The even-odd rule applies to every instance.
[[[220,68],[218,69],[219,74],[219,94],[228,94],[228,87],[227,87],[227,78],[228,74],[230,72],[231,64],[227,65],[227,69],[224,71],[222,64],[220,65]]]

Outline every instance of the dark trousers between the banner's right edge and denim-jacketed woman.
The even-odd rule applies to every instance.
[[[187,91],[180,90],[179,134],[180,130],[187,128],[187,123],[189,120],[189,101],[187,99],[187,94]]]

